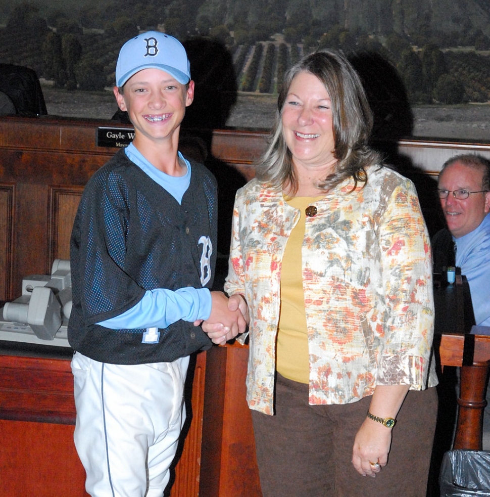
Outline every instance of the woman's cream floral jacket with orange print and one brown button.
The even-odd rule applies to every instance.
[[[376,385],[435,386],[427,229],[411,181],[370,167],[314,202],[302,248],[310,404],[355,402]],[[273,414],[281,261],[299,210],[253,179],[238,190],[225,291],[250,310],[247,400]],[[300,256],[300,254],[298,254]],[[241,337],[244,340],[244,336]]]

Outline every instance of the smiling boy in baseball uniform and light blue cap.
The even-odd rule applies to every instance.
[[[116,84],[135,137],[87,183],[70,244],[74,439],[90,495],[161,497],[185,419],[189,354],[211,346],[194,323],[223,323],[210,333],[216,343],[245,324],[209,290],[215,179],[178,152],[194,90],[184,48],[156,31],[132,38]]]

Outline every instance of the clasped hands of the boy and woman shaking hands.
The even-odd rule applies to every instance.
[[[202,325],[213,343],[224,345],[247,329],[249,308],[239,293],[228,298],[223,292],[211,292],[211,300],[210,317],[206,321],[194,321],[194,326]]]

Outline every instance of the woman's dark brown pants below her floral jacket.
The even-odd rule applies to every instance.
[[[425,497],[437,418],[435,388],[409,391],[376,476],[352,465],[354,437],[371,397],[309,405],[308,385],[277,375],[275,415],[252,411],[264,497]]]

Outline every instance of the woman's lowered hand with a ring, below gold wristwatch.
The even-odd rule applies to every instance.
[[[375,477],[388,462],[391,428],[366,418],[356,434],[352,464],[363,476]]]

